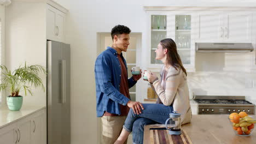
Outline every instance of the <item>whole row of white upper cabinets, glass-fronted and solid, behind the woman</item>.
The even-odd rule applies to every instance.
[[[195,43],[252,43],[256,45],[255,7],[144,7],[148,13],[144,42],[147,69],[159,71],[162,62],[155,59],[160,40],[175,41],[182,63],[195,71]],[[150,41],[150,43],[148,43]],[[255,67],[255,54],[252,56]]]

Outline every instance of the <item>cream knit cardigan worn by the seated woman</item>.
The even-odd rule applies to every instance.
[[[164,68],[165,66],[160,72],[161,76]],[[181,113],[182,124],[190,122],[192,114],[189,102],[187,76],[182,69],[176,70],[174,67],[168,69],[165,90],[162,88],[161,80],[159,79],[153,82],[152,87],[164,105],[169,106],[173,104],[173,110]]]

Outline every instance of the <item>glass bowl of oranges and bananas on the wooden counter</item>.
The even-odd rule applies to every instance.
[[[248,116],[246,112],[233,112],[228,118],[236,135],[249,136],[252,134],[256,120]]]

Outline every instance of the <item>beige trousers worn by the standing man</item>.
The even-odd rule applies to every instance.
[[[102,116],[102,136],[101,143],[103,144],[113,144],[123,129],[126,116]],[[125,141],[125,144],[127,140]]]

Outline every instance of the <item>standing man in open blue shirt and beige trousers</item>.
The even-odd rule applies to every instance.
[[[131,101],[129,95],[129,88],[136,84],[141,74],[127,78],[127,65],[121,53],[127,51],[130,32],[126,26],[115,26],[111,31],[112,47],[107,47],[95,62],[96,110],[97,117],[102,120],[101,143],[113,144],[117,140],[130,108],[138,114],[143,109],[142,104]]]

